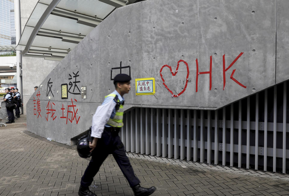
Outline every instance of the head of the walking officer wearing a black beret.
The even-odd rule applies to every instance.
[[[120,93],[121,96],[123,96],[126,93],[129,93],[129,90],[131,89],[130,86],[130,80],[132,78],[127,74],[117,74],[113,78],[113,84],[117,92]]]

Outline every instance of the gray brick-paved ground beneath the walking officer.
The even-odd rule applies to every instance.
[[[77,195],[88,161],[74,146],[26,131],[26,118],[0,127],[0,195]],[[289,176],[128,153],[153,195],[289,195]],[[97,195],[132,195],[112,156],[95,176]]]

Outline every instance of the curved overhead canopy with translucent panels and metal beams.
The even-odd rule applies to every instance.
[[[16,50],[25,57],[60,61],[115,9],[134,2],[139,1],[39,0]]]

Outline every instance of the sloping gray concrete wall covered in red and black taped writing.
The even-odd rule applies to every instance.
[[[34,105],[37,102],[34,93],[27,103],[28,129],[69,144],[71,137],[90,127],[96,107],[113,91],[110,71],[119,67],[120,61],[122,66],[131,68],[132,92],[125,95],[126,109],[134,106],[218,109],[287,80],[288,44],[283,36],[287,32],[288,5],[288,1],[276,0],[148,0],[119,8],[42,81],[38,101],[41,116]],[[198,75],[196,66],[197,61],[199,72],[209,71],[210,56],[211,90],[210,75]],[[182,62],[175,76],[164,67],[171,66],[174,73],[179,60],[188,64],[189,74]],[[173,95],[184,90],[188,79],[178,97],[172,97],[163,84],[162,67],[161,74]],[[128,73],[128,69],[122,72]],[[61,84],[75,81],[73,73],[79,75],[75,83],[79,89],[87,88],[86,99],[73,94],[79,93],[73,83],[68,99],[61,99]],[[113,76],[117,73],[119,69],[113,69]],[[135,78],[149,77],[155,78],[156,93],[136,96]],[[53,83],[48,84],[49,80]],[[55,111],[47,110],[50,106]]]

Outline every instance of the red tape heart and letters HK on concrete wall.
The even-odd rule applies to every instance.
[[[223,55],[223,90],[225,90],[225,84],[226,84],[226,72],[228,71],[228,69],[230,69],[234,63],[236,63],[236,61],[242,56],[242,54],[244,54],[243,52],[241,52],[238,57],[235,58],[235,60],[233,60],[233,62],[227,67],[225,68],[225,54]],[[170,72],[172,73],[173,76],[176,75],[176,73],[178,72],[179,69],[179,63],[180,62],[184,62],[186,67],[187,67],[187,77],[186,77],[186,84],[185,87],[183,88],[182,92],[178,93],[177,95],[175,95],[170,89],[169,87],[167,87],[167,85],[165,84],[165,80],[163,79],[163,75],[162,75],[162,70],[164,67],[168,67],[170,69]],[[246,86],[244,84],[241,84],[241,82],[239,82],[237,79],[235,79],[234,73],[235,73],[236,69],[234,69],[232,71],[232,74],[230,76],[230,78],[235,81],[238,85],[240,85],[243,88],[246,88]],[[212,89],[212,56],[210,56],[210,70],[206,71],[206,72],[199,72],[199,63],[198,63],[198,59],[196,59],[196,92],[198,92],[198,79],[199,79],[199,75],[201,74],[209,74],[210,76],[210,90]],[[189,68],[188,68],[188,63],[186,63],[184,60],[179,60],[176,71],[172,72],[172,67],[168,66],[168,65],[163,65],[160,69],[160,77],[162,78],[163,81],[163,85],[166,87],[167,90],[169,90],[170,93],[172,93],[172,97],[178,97],[179,95],[181,95],[187,87],[188,84],[188,76],[189,76]]]

